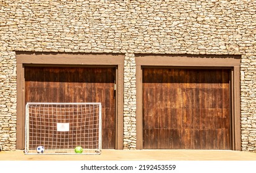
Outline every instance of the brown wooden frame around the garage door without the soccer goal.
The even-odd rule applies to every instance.
[[[231,69],[231,150],[241,150],[240,132],[240,56],[217,55],[152,55],[136,54],[136,133],[137,150],[143,149],[143,98],[142,68],[151,67],[196,67]]]

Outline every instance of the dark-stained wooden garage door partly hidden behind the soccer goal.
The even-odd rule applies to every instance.
[[[103,148],[115,148],[114,67],[25,67],[25,103],[101,103]]]

